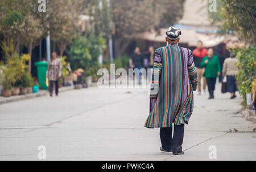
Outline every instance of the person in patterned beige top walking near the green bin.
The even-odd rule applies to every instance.
[[[46,77],[49,81],[49,94],[52,97],[53,85],[55,84],[55,94],[59,93],[59,79],[61,77],[61,61],[57,58],[57,53],[52,53],[52,58],[48,61]]]

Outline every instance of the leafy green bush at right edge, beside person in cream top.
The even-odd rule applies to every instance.
[[[236,76],[238,90],[246,101],[246,93],[252,93],[252,83],[256,78],[256,48],[238,48],[233,53],[239,61]]]

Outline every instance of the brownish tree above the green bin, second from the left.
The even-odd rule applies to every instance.
[[[47,2],[47,15],[44,23],[51,33],[63,56],[64,50],[77,36],[77,23],[82,14],[82,1],[52,0]]]

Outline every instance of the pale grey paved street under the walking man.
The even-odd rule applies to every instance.
[[[127,93],[130,91],[131,93]],[[183,156],[160,153],[159,129],[144,128],[147,89],[89,89],[0,105],[0,160],[256,160],[255,124],[237,113],[241,100],[196,96]],[[238,132],[229,133],[229,129]]]

